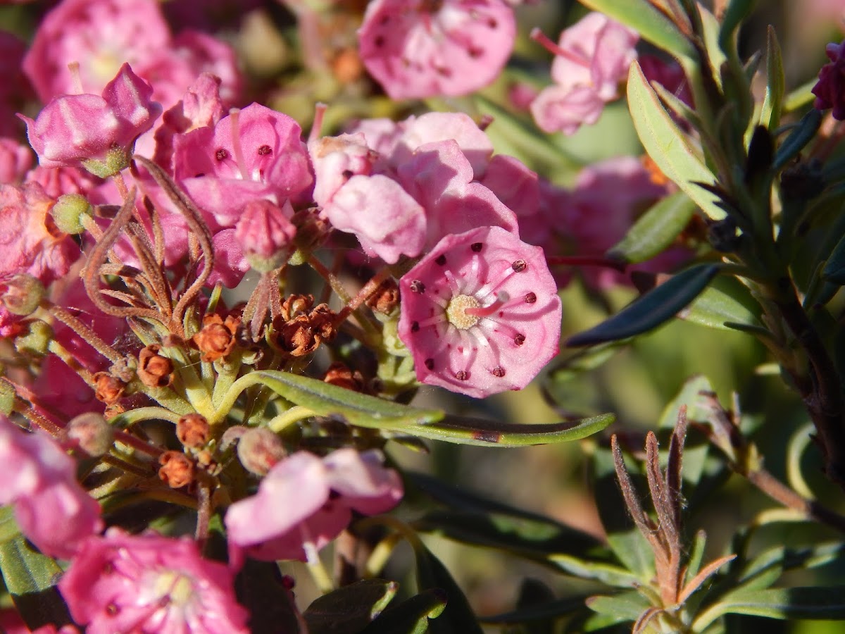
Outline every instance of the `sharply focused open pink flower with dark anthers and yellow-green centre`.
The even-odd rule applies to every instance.
[[[519,390],[558,352],[542,249],[501,227],[446,236],[399,287],[399,336],[423,383],[477,398]]]

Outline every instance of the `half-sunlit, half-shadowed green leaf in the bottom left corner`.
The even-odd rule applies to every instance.
[[[62,569],[25,538],[19,536],[0,544],[0,571],[14,607],[30,630],[73,622],[55,585]]]

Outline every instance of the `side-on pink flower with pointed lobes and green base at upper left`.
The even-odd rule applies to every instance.
[[[41,167],[81,165],[106,177],[128,165],[135,139],[161,114],[151,95],[150,85],[123,64],[102,96],[58,97],[35,121],[19,117],[26,122]]]

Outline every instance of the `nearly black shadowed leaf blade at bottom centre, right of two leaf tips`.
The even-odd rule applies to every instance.
[[[422,542],[412,544],[417,558],[417,587],[422,590],[439,588],[447,597],[443,614],[432,620],[432,634],[482,634],[475,614],[463,590],[455,583],[450,572]]]

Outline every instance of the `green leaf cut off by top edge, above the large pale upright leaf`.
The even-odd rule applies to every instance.
[[[690,41],[665,14],[646,0],[581,0],[581,4],[630,26],[643,40],[675,57],[695,59],[695,48]]]

